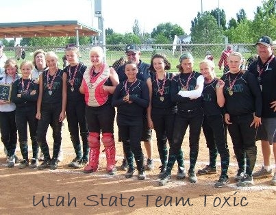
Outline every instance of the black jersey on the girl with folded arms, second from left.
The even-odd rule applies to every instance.
[[[36,90],[36,94],[30,94],[33,90]],[[21,94],[21,97],[18,98],[17,94]],[[16,105],[16,110],[21,108],[36,108],[36,101],[38,100],[38,84],[34,83],[32,79],[17,79],[12,84],[12,93],[11,93],[12,102]]]

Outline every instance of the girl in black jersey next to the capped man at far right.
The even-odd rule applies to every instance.
[[[240,53],[229,54],[229,72],[219,82],[223,90],[218,90],[218,100],[225,103],[225,123],[239,168],[235,177],[237,186],[249,186],[253,184],[252,171],[257,155],[255,136],[261,122],[262,94],[256,77],[240,69],[241,60]]]

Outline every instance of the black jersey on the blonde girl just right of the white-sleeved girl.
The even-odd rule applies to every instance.
[[[202,107],[206,116],[214,116],[223,113],[223,109],[218,106],[216,98],[216,84],[218,79],[213,79],[211,83],[205,84],[202,91]]]

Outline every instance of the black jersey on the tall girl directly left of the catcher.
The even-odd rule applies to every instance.
[[[76,66],[66,66],[64,73],[67,74],[67,100],[68,101],[84,101],[84,94],[79,92],[81,81],[87,66],[79,63]],[[76,71],[76,73],[75,73]]]

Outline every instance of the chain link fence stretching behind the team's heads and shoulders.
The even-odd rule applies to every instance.
[[[140,59],[143,62],[150,63],[151,57],[155,53],[162,53],[166,55],[166,58],[171,62],[171,71],[177,72],[177,64],[179,64],[179,56],[182,53],[190,52],[195,58],[194,70],[199,71],[199,62],[203,60],[207,53],[210,53],[214,58],[214,64],[216,65],[215,71],[216,75],[220,77],[222,75],[222,70],[218,69],[218,61],[221,57],[221,53],[226,49],[228,45],[233,47],[234,51],[239,51],[244,56],[245,62],[247,60],[252,60],[256,53],[256,48],[253,44],[181,44],[181,45],[171,45],[171,44],[151,44],[151,45],[139,45],[141,50]],[[116,60],[120,58],[125,58],[125,46],[126,45],[106,45],[103,47],[106,53],[106,62],[108,65],[112,66]],[[87,66],[90,65],[89,52],[92,45],[81,45],[80,50],[80,60],[84,62]],[[26,53],[25,60],[33,60],[33,53],[36,49],[43,49],[44,51],[54,51],[59,56],[60,67],[62,68],[62,56],[64,55],[65,47],[23,47]],[[5,47],[5,54],[8,58],[15,58],[14,47]],[[18,61],[18,64],[22,62],[22,59]]]

